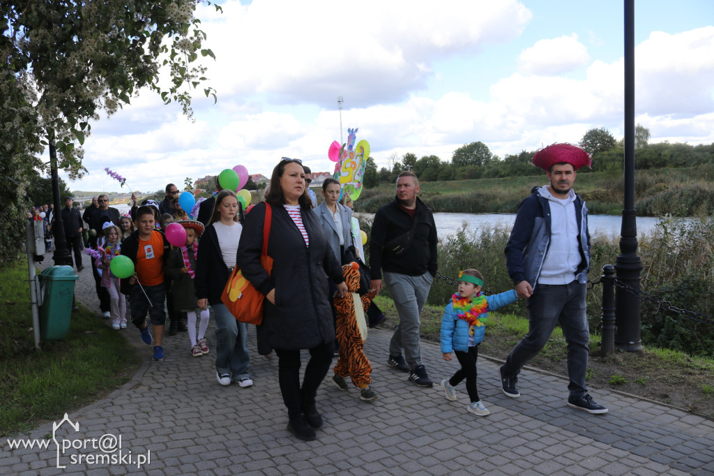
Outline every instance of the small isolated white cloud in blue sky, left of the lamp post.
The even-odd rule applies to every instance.
[[[554,76],[585,66],[590,60],[588,48],[578,35],[542,39],[518,56],[519,70],[524,74]]]

